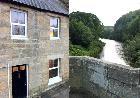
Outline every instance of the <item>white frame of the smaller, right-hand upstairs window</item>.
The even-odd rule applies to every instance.
[[[51,25],[50,25],[50,32],[51,32],[51,29],[58,29],[58,37],[51,37],[51,36],[50,36],[50,40],[58,40],[58,39],[60,39],[60,18],[51,16],[51,17],[50,17],[50,20],[51,20],[51,18],[56,18],[56,19],[58,20],[58,28],[51,27]],[[50,21],[50,22],[51,22],[51,21]],[[51,23],[50,23],[50,24],[51,24]]]

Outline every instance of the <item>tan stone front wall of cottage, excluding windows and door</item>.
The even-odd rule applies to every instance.
[[[27,39],[11,39],[10,9],[27,11]],[[60,18],[60,39],[50,40],[50,17]],[[66,16],[0,2],[0,97],[12,96],[12,66],[28,64],[29,96],[46,91],[49,59],[61,59],[62,82],[69,78],[69,19]],[[9,71],[9,73],[8,73]],[[9,81],[8,81],[9,80]],[[8,85],[9,84],[9,85]]]

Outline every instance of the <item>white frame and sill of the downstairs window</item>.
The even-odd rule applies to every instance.
[[[62,78],[60,77],[60,58],[55,58],[55,59],[50,59],[50,60],[58,60],[58,65],[57,67],[52,67],[52,68],[49,68],[49,71],[50,70],[53,70],[53,69],[58,69],[58,75],[56,77],[53,77],[53,78],[49,78],[49,83],[48,85],[52,85],[52,84],[55,84],[55,83],[58,83],[60,81],[62,81]]]

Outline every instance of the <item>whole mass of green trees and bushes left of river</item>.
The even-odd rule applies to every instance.
[[[70,14],[70,55],[98,57],[104,44],[99,41],[103,25],[96,15],[84,12]]]

